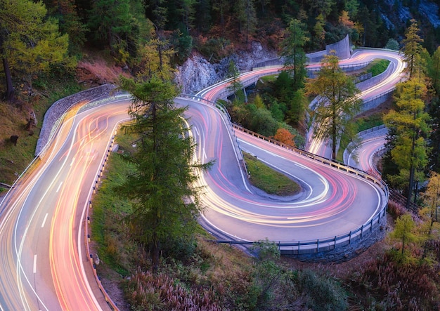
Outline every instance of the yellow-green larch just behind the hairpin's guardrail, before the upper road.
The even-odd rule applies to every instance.
[[[360,110],[359,92],[354,82],[339,67],[334,51],[325,55],[321,70],[313,79],[307,79],[306,95],[318,96],[313,116],[313,138],[332,143],[332,159],[336,159],[337,143],[342,135],[354,140],[356,132],[351,119]]]

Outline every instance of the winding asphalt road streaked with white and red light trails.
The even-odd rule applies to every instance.
[[[401,62],[396,53],[366,50],[342,62],[384,57],[395,59],[397,65]],[[394,67],[380,86],[363,95],[393,88],[401,68]],[[279,69],[257,70],[242,79],[258,79]],[[217,84],[198,95],[212,100],[225,90],[226,84]],[[387,193],[373,178],[234,131],[228,117],[203,100],[176,98],[176,102],[190,108],[198,160],[216,161],[200,178],[206,185],[204,221],[216,234],[240,241],[319,240],[346,234],[384,210]],[[46,152],[1,201],[0,310],[108,309],[89,277],[85,211],[110,138],[117,124],[127,119],[128,106],[127,100],[110,100],[70,112]],[[238,144],[297,180],[302,192],[281,199],[252,188]]]

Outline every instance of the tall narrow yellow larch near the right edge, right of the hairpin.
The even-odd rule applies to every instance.
[[[396,86],[394,100],[396,110],[384,116],[384,124],[394,133],[394,141],[388,141],[389,155],[399,173],[387,176],[394,185],[406,189],[407,202],[414,193],[417,199],[417,185],[424,178],[423,170],[428,164],[429,147],[426,138],[429,135],[429,114],[425,112],[425,100],[428,95],[425,78],[425,49],[420,45],[420,37],[415,20],[406,32],[405,46],[402,51],[408,65],[408,80]]]

